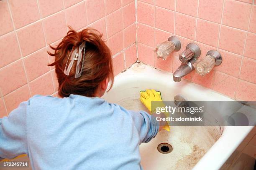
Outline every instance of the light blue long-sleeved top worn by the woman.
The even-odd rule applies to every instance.
[[[158,130],[147,112],[99,97],[36,95],[0,119],[0,157],[27,154],[36,170],[139,170],[139,145]]]

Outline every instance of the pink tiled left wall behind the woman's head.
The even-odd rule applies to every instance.
[[[137,60],[135,0],[1,0],[0,16],[0,117],[33,95],[56,96],[47,50],[67,34],[67,25],[102,32],[115,75]]]

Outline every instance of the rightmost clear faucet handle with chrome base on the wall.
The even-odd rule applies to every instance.
[[[220,65],[221,62],[222,58],[220,53],[216,50],[210,50],[202,60],[199,60],[195,64],[195,70],[198,74],[204,76],[208,74],[215,65]]]

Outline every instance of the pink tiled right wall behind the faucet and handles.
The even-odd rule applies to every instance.
[[[255,0],[138,0],[137,22],[138,60],[174,72],[179,53],[195,42],[200,58],[215,49],[223,63],[205,77],[192,72],[184,79],[236,100],[256,100]],[[154,57],[156,45],[172,35],[182,49],[165,61]]]

